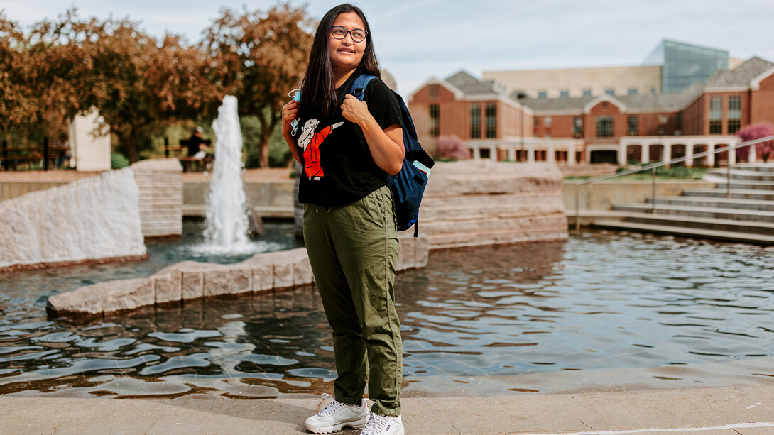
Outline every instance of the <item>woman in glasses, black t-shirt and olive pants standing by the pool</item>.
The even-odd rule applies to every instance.
[[[317,27],[301,101],[283,107],[283,135],[304,168],[303,235],[337,370],[334,400],[306,426],[330,433],[365,425],[363,435],[402,435],[398,239],[387,187],[405,154],[401,109],[382,80],[368,84],[363,101],[349,94],[361,74],[381,75],[368,21],[357,7],[338,5]]]

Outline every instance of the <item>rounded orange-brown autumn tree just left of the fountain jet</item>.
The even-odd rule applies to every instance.
[[[219,97],[196,47],[170,35],[158,44],[126,19],[106,23],[91,56],[94,105],[132,163],[159,125],[206,117]]]

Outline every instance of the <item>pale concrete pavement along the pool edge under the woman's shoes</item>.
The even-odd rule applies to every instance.
[[[307,433],[322,399],[0,397],[0,433]],[[774,387],[403,399],[407,435],[774,433]],[[342,433],[358,433],[356,430]]]

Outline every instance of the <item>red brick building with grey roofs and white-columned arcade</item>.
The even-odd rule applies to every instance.
[[[774,123],[774,63],[759,57],[670,94],[531,98],[461,71],[409,98],[425,142],[457,135],[474,158],[646,163],[738,143],[739,128]],[[733,153],[732,153],[733,154]],[[754,156],[754,153],[751,153]],[[728,156],[691,159],[725,163]],[[735,156],[731,156],[733,163]]]

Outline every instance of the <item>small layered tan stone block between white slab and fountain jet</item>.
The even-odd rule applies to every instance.
[[[142,234],[183,234],[183,166],[177,159],[142,160],[132,165],[139,189]]]

